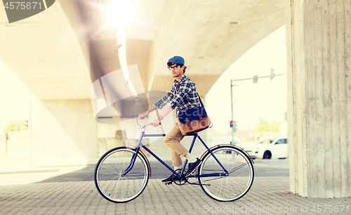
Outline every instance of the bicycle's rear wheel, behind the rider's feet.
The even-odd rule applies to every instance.
[[[202,190],[214,200],[230,202],[239,200],[253,183],[253,164],[240,148],[220,145],[211,150],[220,164],[228,171],[227,176],[199,177]],[[224,174],[225,171],[210,152],[206,152],[198,174]]]

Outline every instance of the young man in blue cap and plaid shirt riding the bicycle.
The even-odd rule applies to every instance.
[[[185,60],[180,56],[174,56],[168,60],[167,65],[168,69],[172,72],[172,76],[176,78],[172,88],[164,97],[160,98],[156,103],[154,103],[154,107],[139,115],[139,119],[144,119],[150,112],[161,109],[164,107],[164,105],[166,105],[164,112],[162,112],[162,114],[152,122],[152,125],[155,127],[159,126],[161,120],[175,108],[178,115],[180,112],[185,112],[191,108],[201,106],[194,82],[192,82],[189,77],[185,76],[185,70],[187,68],[185,66]],[[182,157],[188,159],[190,163],[187,172],[185,173],[185,176],[188,176],[192,174],[197,167],[199,167],[201,161],[199,158],[191,155],[187,149],[180,144],[183,137],[184,136],[180,132],[178,124],[176,124],[165,136],[164,143],[166,143],[171,150],[172,162],[175,170],[182,169]],[[162,182],[174,180],[178,180],[178,176],[172,174]]]

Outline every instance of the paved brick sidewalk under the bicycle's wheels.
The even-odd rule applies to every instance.
[[[138,198],[115,204],[100,196],[93,181],[84,181],[0,186],[0,208],[0,214],[351,214],[351,197],[300,197],[289,193],[288,177],[256,177],[240,200],[217,202],[199,185],[151,179]]]

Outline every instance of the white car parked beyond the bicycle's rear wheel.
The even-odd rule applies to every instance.
[[[288,139],[283,138],[267,138],[260,143],[240,144],[249,155],[255,158],[271,159],[271,158],[286,158],[289,155]]]

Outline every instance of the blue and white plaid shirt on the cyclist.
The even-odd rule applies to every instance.
[[[172,88],[164,97],[154,103],[154,107],[161,109],[166,104],[173,109],[176,108],[177,115],[191,108],[200,107],[201,104],[194,82],[189,77],[186,77],[185,74],[178,80],[174,80]]]

